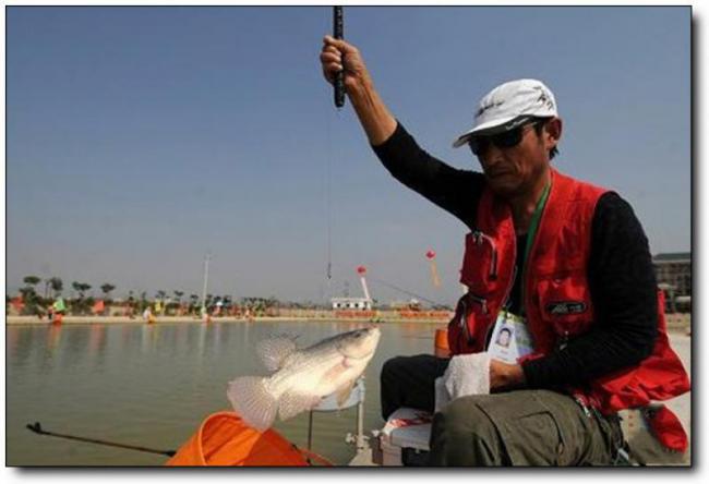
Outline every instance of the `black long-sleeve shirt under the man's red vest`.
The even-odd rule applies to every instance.
[[[400,123],[373,149],[397,180],[469,229],[476,228],[485,184],[482,173],[459,170],[432,157]],[[635,365],[652,351],[658,300],[648,240],[630,205],[614,192],[604,193],[596,206],[588,279],[596,324],[563,349],[524,363],[529,388],[584,385]]]

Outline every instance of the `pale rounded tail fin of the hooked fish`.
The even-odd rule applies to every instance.
[[[266,378],[242,376],[229,383],[227,397],[233,410],[251,427],[264,432],[276,419],[278,401],[266,389]]]

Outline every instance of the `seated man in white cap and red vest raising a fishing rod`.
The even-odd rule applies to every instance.
[[[357,48],[329,36],[325,77],[348,97],[384,166],[471,232],[448,326],[454,358],[485,351],[498,325],[531,341],[512,363],[490,361],[492,395],[458,398],[434,416],[434,465],[611,464],[623,445],[616,412],[687,391],[668,344],[648,241],[616,193],[551,167],[562,120],[536,80],[482,98],[469,146],[482,173],[421,149],[378,96]],[[434,409],[448,360],[396,358],[382,370],[382,413]]]

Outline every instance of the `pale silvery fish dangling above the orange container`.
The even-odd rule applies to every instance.
[[[380,341],[376,327],[335,335],[298,349],[295,338],[261,341],[256,352],[275,372],[271,376],[242,376],[229,383],[227,397],[253,428],[263,432],[276,419],[288,420],[337,394],[341,406],[364,372]]]

